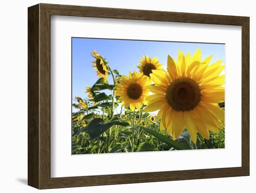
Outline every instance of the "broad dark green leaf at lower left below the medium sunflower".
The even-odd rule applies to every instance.
[[[87,126],[88,127],[87,131],[88,131],[88,134],[90,135],[91,139],[94,139],[95,137],[101,135],[106,130],[111,128],[113,125],[121,125],[121,126],[126,127],[129,125],[129,123],[122,122],[120,120],[105,123],[101,118],[95,118]]]

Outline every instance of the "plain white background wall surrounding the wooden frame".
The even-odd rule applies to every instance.
[[[82,6],[104,6],[159,11],[210,13],[250,17],[250,154],[249,177],[205,180],[185,180],[157,183],[78,187],[43,190],[40,192],[98,193],[98,192],[255,192],[256,167],[253,150],[256,132],[253,131],[253,84],[256,68],[253,48],[256,47],[256,12],[252,0],[8,0],[0,5],[0,192],[37,192],[27,186],[27,7],[37,3]],[[146,32],[145,32],[146,33]],[[234,56],[236,57],[236,56]],[[255,97],[255,96],[254,96]],[[234,108],[235,110],[235,108]],[[220,158],[221,159],[221,158]],[[163,161],[168,164],[168,160]],[[189,164],[189,161],[188,161]]]

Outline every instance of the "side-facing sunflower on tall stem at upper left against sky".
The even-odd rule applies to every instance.
[[[93,67],[95,71],[97,72],[98,77],[103,77],[105,82],[107,81],[108,77],[108,66],[104,58],[96,51],[91,52],[92,57],[95,58],[95,61],[93,62]]]

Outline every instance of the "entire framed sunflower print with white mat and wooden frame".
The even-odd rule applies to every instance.
[[[28,8],[28,185],[249,175],[249,17]]]

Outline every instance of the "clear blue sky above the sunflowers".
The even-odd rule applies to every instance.
[[[72,38],[73,100],[74,96],[86,98],[86,87],[91,87],[99,78],[92,67],[94,58],[91,56],[91,50],[96,50],[103,58],[107,58],[113,70],[117,69],[120,74],[127,76],[128,71],[138,71],[136,65],[140,63],[143,55],[158,57],[166,68],[168,55],[177,59],[179,49],[184,54],[190,52],[193,55],[198,48],[201,48],[202,58],[214,54],[211,63],[220,59],[225,63],[223,44]],[[108,77],[108,82],[111,84],[111,77]]]

